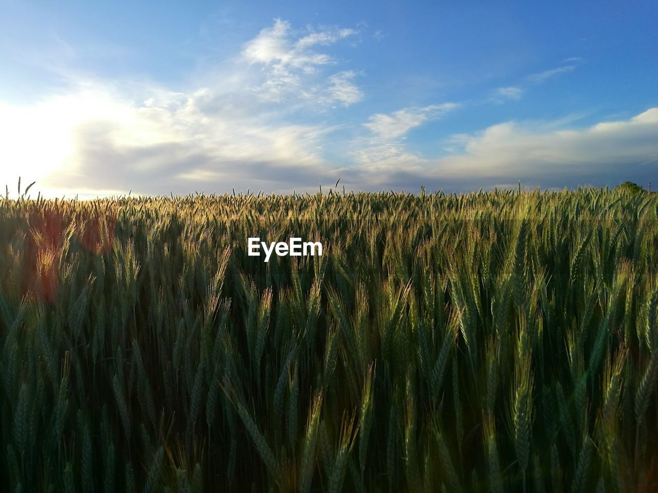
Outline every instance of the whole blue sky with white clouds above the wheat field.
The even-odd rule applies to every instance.
[[[658,189],[658,3],[0,0],[0,187]]]

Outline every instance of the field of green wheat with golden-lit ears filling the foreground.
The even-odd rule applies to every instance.
[[[0,199],[0,491],[658,491],[657,215],[607,189]]]

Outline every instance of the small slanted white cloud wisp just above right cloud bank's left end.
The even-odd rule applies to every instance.
[[[420,126],[428,120],[439,118],[455,108],[457,108],[456,103],[443,103],[423,108],[404,108],[390,114],[374,114],[364,125],[379,139],[389,141],[403,137],[412,128]]]

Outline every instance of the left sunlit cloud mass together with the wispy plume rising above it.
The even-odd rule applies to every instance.
[[[245,43],[238,59],[182,89],[67,72],[68,88],[39,103],[0,101],[0,183],[22,174],[53,194],[164,193],[209,183],[291,190],[333,179],[318,150],[334,127],[290,114],[299,105],[309,116],[318,105],[363,98],[355,84],[360,72],[336,71],[340,60],[318,49],[353,34],[307,28],[295,38],[290,24],[277,20]],[[325,66],[334,71],[325,74]],[[249,90],[256,85],[262,98]],[[270,105],[276,100],[286,104]]]

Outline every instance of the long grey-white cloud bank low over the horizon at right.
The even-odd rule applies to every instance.
[[[457,149],[451,155],[419,158],[398,150],[381,166],[371,162],[368,170],[385,187],[412,183],[462,190],[519,180],[542,188],[615,185],[626,179],[645,183],[658,174],[658,108],[588,128],[553,127],[550,122],[505,122],[453,135]]]

